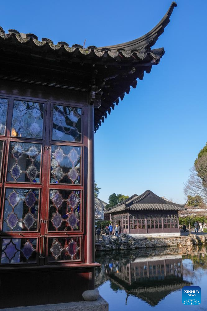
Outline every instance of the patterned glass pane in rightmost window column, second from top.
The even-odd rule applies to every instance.
[[[81,147],[51,146],[51,183],[81,183]]]

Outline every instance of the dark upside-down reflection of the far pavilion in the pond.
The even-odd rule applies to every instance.
[[[171,292],[192,284],[183,280],[182,255],[160,252],[162,255],[148,257],[144,254],[140,257],[140,253],[137,253],[138,257],[136,253],[130,256],[126,253],[101,254],[96,258],[102,263],[102,267],[96,269],[96,286],[110,280],[112,290],[126,292],[126,304],[128,296],[133,295],[156,306]]]

